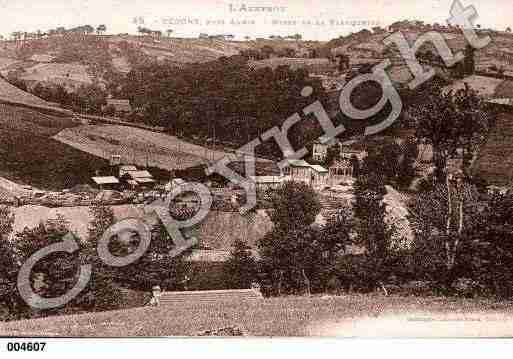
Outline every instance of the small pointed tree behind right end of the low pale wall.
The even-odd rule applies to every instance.
[[[230,258],[224,264],[225,283],[231,289],[250,288],[257,278],[257,264],[242,239],[233,243]]]

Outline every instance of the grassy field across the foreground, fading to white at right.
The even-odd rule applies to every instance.
[[[0,324],[0,335],[190,336],[236,326],[249,336],[511,336],[512,303],[380,295],[284,297],[136,308]]]

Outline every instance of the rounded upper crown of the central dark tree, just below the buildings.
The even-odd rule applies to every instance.
[[[285,182],[271,201],[271,220],[284,232],[310,226],[321,210],[315,191],[301,182]]]

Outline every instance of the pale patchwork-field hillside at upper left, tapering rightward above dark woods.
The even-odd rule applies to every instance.
[[[285,40],[225,41],[198,38],[161,38],[135,35],[67,35],[25,42],[0,43],[0,73],[16,74],[29,84],[60,84],[68,89],[95,80],[108,81],[112,72],[127,73],[135,65],[167,61],[176,65],[202,63],[241,50],[270,46],[307,53],[315,42]]]

